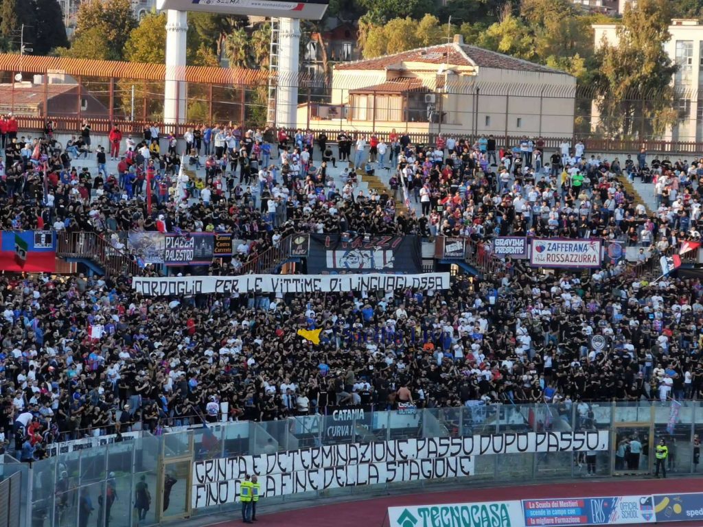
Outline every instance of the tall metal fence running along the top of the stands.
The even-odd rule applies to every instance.
[[[430,138],[439,133],[580,137],[602,141],[608,150],[636,152],[643,142],[649,150],[702,150],[703,100],[695,89],[632,89],[614,104],[604,103],[593,83],[577,86],[566,76],[539,84],[424,72],[389,79],[385,70],[363,68],[340,67],[330,74],[335,62],[314,61],[311,70],[290,75],[188,66],[179,73],[186,85],[185,104],[174,105],[183,115],[176,113],[174,120],[276,125],[267,123],[275,113],[269,108],[269,86],[295,86],[295,127],[302,129],[378,134],[396,129]],[[125,133],[138,134],[143,123],[164,121],[165,105],[175,102],[165,100],[167,77],[163,64],[0,54],[0,113],[13,113],[27,124],[31,119],[32,129],[43,129],[53,119],[59,131],[78,133],[75,125],[82,119],[96,119],[96,132],[106,133],[117,124]],[[22,80],[16,82],[18,78]],[[670,110],[667,124],[659,126],[657,116],[664,109]],[[160,128],[180,131],[178,126]]]

